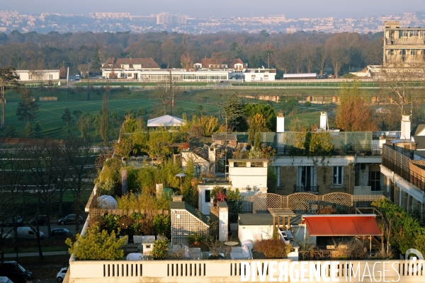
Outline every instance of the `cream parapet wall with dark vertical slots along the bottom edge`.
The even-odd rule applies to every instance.
[[[260,262],[265,266],[268,260],[255,260],[257,265]],[[279,265],[285,262],[288,270],[292,260],[275,260]],[[301,262],[294,265],[294,270],[300,272]],[[324,261],[320,261],[321,265]],[[332,263],[332,262],[331,262]],[[375,264],[376,263],[376,264]],[[314,261],[317,264],[317,261]],[[385,269],[386,282],[425,282],[422,270],[419,272],[407,272],[404,270],[404,260],[383,260],[381,261],[351,261],[353,271],[348,272],[350,262],[340,261],[339,265],[334,265],[335,277],[339,282],[382,282],[382,273]],[[69,282],[241,282],[241,272],[244,265],[242,260],[153,260],[153,261],[74,261],[70,260]],[[280,272],[278,266],[274,278],[278,278]],[[308,269],[308,265],[303,267]],[[359,268],[359,270],[358,270]],[[270,268],[266,268],[266,280],[271,282],[269,276]],[[331,268],[329,265],[324,269],[329,278]],[[360,272],[360,273],[359,273]],[[351,278],[350,278],[351,273]],[[357,273],[354,277],[353,273]],[[295,272],[294,272],[295,274]],[[300,274],[300,273],[298,273]],[[305,278],[309,278],[310,273],[305,272]],[[370,275],[370,276],[369,276]],[[360,278],[359,278],[360,276]],[[364,276],[364,277],[363,277]],[[374,279],[375,277],[375,279]],[[253,282],[249,277],[248,282]],[[371,279],[371,280],[370,280]],[[389,280],[389,281],[388,281]],[[260,282],[259,273],[256,272],[256,282]],[[290,280],[288,282],[295,282]],[[324,282],[323,279],[314,282]]]

